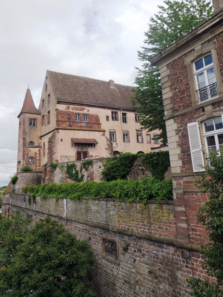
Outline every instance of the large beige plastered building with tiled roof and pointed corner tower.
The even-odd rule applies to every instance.
[[[47,71],[38,110],[27,89],[19,118],[17,172],[120,152],[148,153],[159,147],[141,130],[131,107],[133,87]]]

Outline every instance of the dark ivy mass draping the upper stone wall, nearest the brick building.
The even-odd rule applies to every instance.
[[[167,150],[148,154],[125,153],[107,158],[104,170],[101,172],[102,179],[108,182],[116,179],[126,179],[137,158],[141,158],[141,161],[148,167],[152,177],[160,181],[163,180],[164,174],[170,166],[170,156]]]

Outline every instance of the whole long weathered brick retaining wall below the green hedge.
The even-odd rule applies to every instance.
[[[29,206],[24,194],[4,195],[3,203],[9,196],[10,212],[28,212],[32,225],[53,215],[72,234],[90,241],[96,257],[90,278],[99,297],[188,297],[185,278],[192,275],[192,270],[195,277],[207,278],[200,266],[203,256],[174,239],[173,201],[162,201],[159,206],[149,201],[143,208],[140,202],[116,199],[65,198],[55,203],[53,198],[41,201],[36,197]],[[117,242],[117,261],[103,254],[103,238]],[[127,242],[130,245],[124,252],[122,246]]]

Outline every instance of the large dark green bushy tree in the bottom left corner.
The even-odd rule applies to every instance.
[[[46,217],[28,231],[11,263],[0,268],[1,297],[93,297],[90,244]]]

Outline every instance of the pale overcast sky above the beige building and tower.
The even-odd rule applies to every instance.
[[[0,0],[0,186],[16,172],[27,85],[39,106],[46,70],[133,85],[149,17],[163,1]]]

